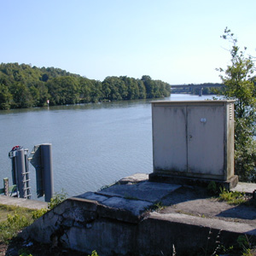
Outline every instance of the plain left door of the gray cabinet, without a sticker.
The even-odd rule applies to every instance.
[[[187,172],[186,107],[153,108],[154,170]]]

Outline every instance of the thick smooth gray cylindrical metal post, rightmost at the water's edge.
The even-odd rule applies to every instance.
[[[41,144],[42,166],[44,169],[44,195],[45,201],[50,201],[54,194],[52,149],[51,143]]]

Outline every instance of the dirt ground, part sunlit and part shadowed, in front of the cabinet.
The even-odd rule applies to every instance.
[[[247,195],[247,205],[230,205],[209,195],[207,189],[182,187],[162,201],[165,207],[161,213],[180,212],[204,218],[218,218],[225,221],[256,224],[256,200]]]

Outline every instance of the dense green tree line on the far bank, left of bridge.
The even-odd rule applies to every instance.
[[[55,67],[0,64],[0,109],[32,108],[170,96],[171,86],[143,75],[107,77],[102,82]]]

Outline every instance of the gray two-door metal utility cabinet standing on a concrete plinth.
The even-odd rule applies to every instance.
[[[152,102],[154,173],[234,175],[234,101]]]

